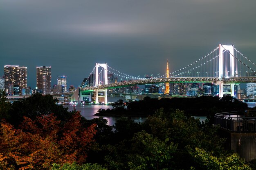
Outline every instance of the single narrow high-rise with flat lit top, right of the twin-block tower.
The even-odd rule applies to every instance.
[[[36,67],[36,85],[38,92],[45,94],[51,93],[51,66]]]

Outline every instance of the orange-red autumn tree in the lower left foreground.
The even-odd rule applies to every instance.
[[[64,126],[53,114],[24,117],[18,129],[6,121],[0,126],[0,169],[50,169],[53,163],[84,163],[94,142],[96,124],[81,126],[74,113]]]

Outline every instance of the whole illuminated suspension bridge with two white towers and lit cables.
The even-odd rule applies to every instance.
[[[81,92],[95,92],[95,103],[99,103],[99,92],[104,93],[107,103],[107,89],[133,85],[157,83],[214,83],[219,86],[219,96],[234,96],[235,83],[255,83],[256,64],[239,52],[234,45],[219,44],[207,55],[199,57],[174,72],[157,77],[141,78],[125,74],[110,67],[107,63],[96,63],[92,72],[81,87]],[[114,78],[115,76],[115,78]],[[118,81],[121,80],[121,81]],[[230,85],[230,92],[223,91],[223,85]]]

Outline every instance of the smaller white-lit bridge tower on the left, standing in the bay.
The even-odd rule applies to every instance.
[[[95,86],[94,87],[98,87],[99,85],[102,85],[100,84],[100,81],[99,81],[99,67],[102,67],[104,68],[104,76],[103,76],[103,84],[104,85],[107,85],[108,84],[108,75],[107,75],[107,63],[96,63],[96,80],[95,80]],[[104,98],[105,98],[105,104],[108,103],[108,98],[107,98],[107,89],[104,89],[104,90],[101,90],[104,92]],[[96,88],[95,90],[95,104],[99,104],[99,89]]]

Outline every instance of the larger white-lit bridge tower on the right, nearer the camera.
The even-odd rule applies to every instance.
[[[223,53],[227,51],[230,54],[230,63],[223,64]],[[230,74],[229,74],[230,73]],[[234,63],[234,46],[219,44],[219,78],[235,77],[235,63]],[[230,83],[230,92],[223,92],[223,82],[219,82],[219,97],[223,97],[223,94],[230,94],[235,96],[234,83]]]

